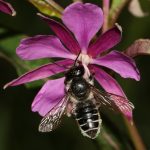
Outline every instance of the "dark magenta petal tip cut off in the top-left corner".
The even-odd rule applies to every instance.
[[[3,0],[0,0],[0,11],[12,16],[16,15],[16,12],[13,9],[13,7],[9,3],[4,2]]]

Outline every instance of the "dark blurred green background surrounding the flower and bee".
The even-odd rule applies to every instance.
[[[15,54],[15,48],[20,39],[25,35],[51,34],[52,31],[37,16],[37,9],[25,0],[9,1],[17,11],[16,17],[0,13],[0,150],[96,150],[99,145],[95,140],[83,137],[73,119],[65,117],[53,133],[41,134],[38,132],[38,124],[41,117],[31,112],[31,103],[40,89],[27,88],[26,86],[11,87],[3,90],[5,83],[18,77],[17,71],[23,73],[43,62],[23,62]],[[58,0],[63,7],[71,1]],[[98,0],[88,0],[101,6]],[[150,1],[140,1],[144,11],[150,14]],[[150,15],[144,18],[132,16],[125,8],[120,15],[118,23],[123,28],[123,39],[116,49],[124,50],[136,39],[150,38]],[[5,58],[3,55],[7,55]],[[13,58],[13,60],[11,59]],[[14,62],[16,60],[16,62]],[[47,61],[47,60],[46,60]],[[147,149],[150,149],[150,56],[138,56],[137,66],[141,73],[141,81],[122,79],[116,76],[125,90],[128,98],[134,103],[134,121]],[[16,71],[14,65],[19,66]],[[28,65],[30,68],[28,68]],[[36,83],[35,83],[36,85]],[[120,136],[117,130],[121,130],[121,139],[126,136],[122,127],[115,128],[107,119],[104,124],[112,130],[114,136]],[[119,124],[119,121],[117,122]],[[129,141],[130,143],[130,141]],[[99,143],[101,149],[109,150],[103,139]],[[130,150],[132,146],[122,144],[121,149]]]

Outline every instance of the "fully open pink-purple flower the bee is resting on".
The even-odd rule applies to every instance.
[[[104,55],[106,50],[121,40],[121,30],[118,26],[108,30],[92,42],[103,24],[103,12],[98,6],[89,3],[71,4],[64,10],[62,16],[66,27],[43,15],[40,16],[57,36],[38,35],[23,39],[17,48],[18,56],[25,60],[52,57],[63,58],[63,60],[57,61],[58,65],[46,64],[32,70],[8,83],[5,88],[65,72],[66,69],[61,66],[71,67],[80,51],[79,61],[92,73],[94,72],[95,79],[109,93],[125,97],[117,81],[105,72],[103,67],[115,71],[124,78],[140,80],[139,71],[133,59],[115,50]],[[64,79],[65,77],[47,81],[35,97],[32,111],[45,116],[58,104],[65,95]],[[119,104],[117,102],[115,104],[120,109]],[[123,110],[122,113],[132,118],[132,108],[128,111]]]

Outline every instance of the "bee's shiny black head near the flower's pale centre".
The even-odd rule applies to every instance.
[[[67,73],[66,78],[67,80],[71,80],[75,77],[82,77],[85,73],[83,65],[73,66]]]

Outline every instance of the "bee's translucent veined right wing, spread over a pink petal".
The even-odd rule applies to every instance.
[[[122,112],[125,115],[130,114],[132,109],[134,109],[134,105],[125,97],[99,91],[94,86],[91,86],[91,89],[96,102],[100,104],[100,107],[110,108],[112,110]]]

